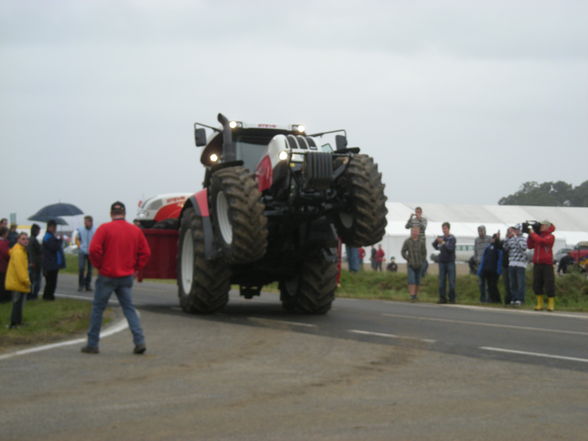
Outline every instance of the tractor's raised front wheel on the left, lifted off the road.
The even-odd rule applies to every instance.
[[[209,195],[215,237],[224,259],[233,264],[261,259],[267,249],[267,217],[249,170],[241,166],[217,170]]]

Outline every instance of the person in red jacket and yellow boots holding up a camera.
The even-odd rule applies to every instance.
[[[543,293],[547,294],[547,310],[555,309],[555,277],[553,273],[553,232],[555,225],[541,222],[539,234],[529,230],[527,247],[533,249],[533,291],[537,296],[535,311],[543,310]]]

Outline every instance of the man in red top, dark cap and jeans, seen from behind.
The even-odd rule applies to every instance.
[[[102,315],[114,291],[129,322],[135,343],[135,354],[145,352],[145,337],[141,322],[133,306],[131,290],[133,275],[149,261],[151,250],[143,232],[125,220],[125,206],[115,202],[110,207],[112,222],[101,225],[90,243],[90,261],[98,270],[96,291],[92,304],[88,344],[82,348],[87,354],[97,354]]]

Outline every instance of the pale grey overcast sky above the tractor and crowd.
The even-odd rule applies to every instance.
[[[390,201],[588,179],[588,2],[1,0],[0,217],[197,191],[193,123],[345,128]]]

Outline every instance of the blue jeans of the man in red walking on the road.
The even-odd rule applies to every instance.
[[[133,342],[135,345],[145,344],[145,337],[143,336],[143,329],[141,329],[141,322],[137,311],[133,306],[131,297],[131,290],[133,287],[133,277],[105,277],[98,276],[96,280],[96,291],[94,292],[94,302],[92,303],[92,315],[90,317],[90,329],[88,330],[88,346],[98,347],[100,341],[100,327],[102,326],[102,315],[108,305],[110,295],[114,291],[118,302],[123,310],[129,328],[133,334]]]

